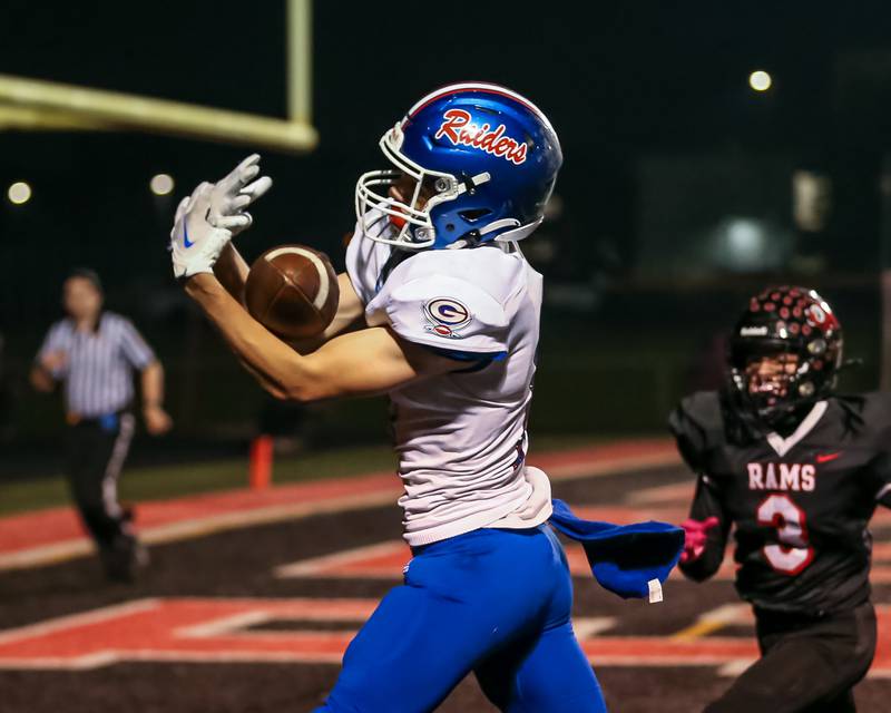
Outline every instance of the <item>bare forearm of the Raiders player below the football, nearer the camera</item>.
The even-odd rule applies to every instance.
[[[314,389],[307,360],[266,331],[213,275],[205,273],[190,277],[186,282],[186,292],[216,325],[247,371],[270,393],[296,401],[321,398]]]

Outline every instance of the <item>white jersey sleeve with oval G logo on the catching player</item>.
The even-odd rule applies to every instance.
[[[449,352],[507,352],[503,306],[477,285],[448,275],[431,275],[384,290],[369,305],[369,323],[388,323],[409,342]]]

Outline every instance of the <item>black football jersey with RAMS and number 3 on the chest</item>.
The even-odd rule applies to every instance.
[[[691,517],[719,522],[684,574],[712,576],[735,526],[736,588],[756,607],[822,614],[866,600],[866,526],[877,504],[891,507],[891,395],[820,401],[786,437],[736,436],[731,420],[716,392],[669,419],[698,473]]]

